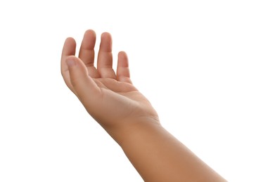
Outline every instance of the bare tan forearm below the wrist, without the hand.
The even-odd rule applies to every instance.
[[[225,181],[158,123],[139,123],[120,146],[144,181]]]

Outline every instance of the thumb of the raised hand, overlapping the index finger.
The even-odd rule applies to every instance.
[[[88,109],[90,104],[94,104],[95,98],[100,95],[100,88],[96,85],[93,78],[89,76],[87,67],[81,59],[70,56],[66,60],[70,73],[70,82],[74,92],[80,99],[85,108]]]

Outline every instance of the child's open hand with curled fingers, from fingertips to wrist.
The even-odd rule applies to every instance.
[[[111,135],[115,135],[113,130],[128,130],[143,118],[158,123],[158,114],[132,85],[126,53],[119,52],[115,73],[112,68],[112,39],[110,34],[103,33],[96,67],[95,42],[95,32],[86,31],[79,57],[75,57],[75,40],[66,39],[61,58],[61,73],[70,90],[77,95],[89,114]]]

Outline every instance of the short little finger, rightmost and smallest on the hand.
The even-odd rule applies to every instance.
[[[128,57],[127,57],[127,54],[123,51],[118,53],[117,80],[126,82],[126,83],[132,83],[132,80],[130,79],[130,73],[129,73]]]

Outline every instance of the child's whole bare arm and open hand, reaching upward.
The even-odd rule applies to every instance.
[[[113,70],[112,38],[101,34],[94,63],[96,33],[87,30],[79,56],[74,38],[67,38],[61,56],[66,85],[84,108],[119,144],[144,181],[226,181],[169,134],[158,113],[134,87],[128,57],[118,53]],[[115,175],[115,174],[113,174]]]

